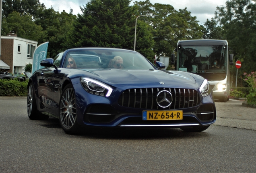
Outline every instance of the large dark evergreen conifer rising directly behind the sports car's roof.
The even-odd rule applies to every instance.
[[[133,50],[135,19],[130,0],[91,0],[81,7],[66,47],[112,47]],[[136,50],[148,58],[154,56],[152,26],[137,25]]]

